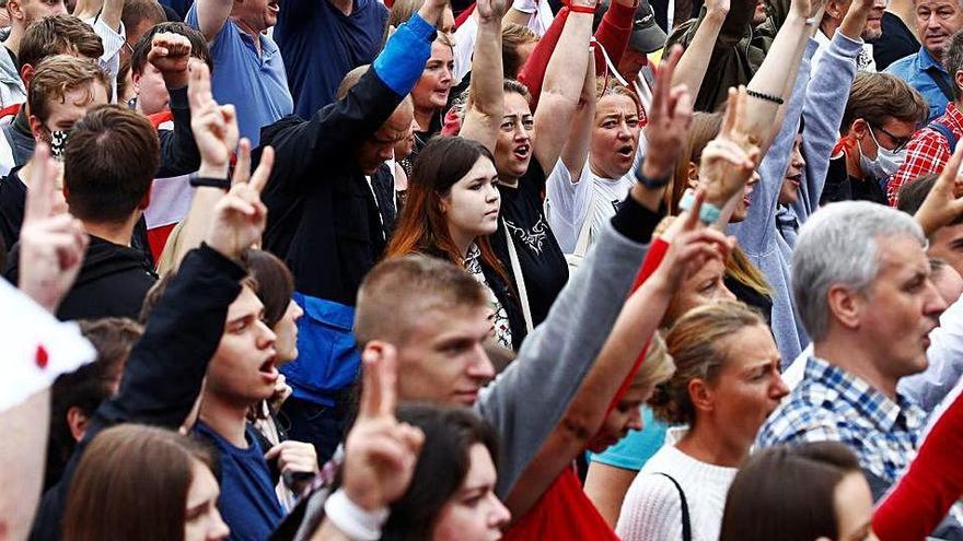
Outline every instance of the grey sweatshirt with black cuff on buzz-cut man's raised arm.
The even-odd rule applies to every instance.
[[[481,390],[473,409],[499,435],[500,498],[555,430],[602,350],[649,248],[638,240],[651,238],[659,217],[631,200],[623,203],[578,272],[571,273],[545,321],[527,336],[512,364]],[[626,226],[633,228],[630,235],[620,233]],[[327,496],[326,489],[311,495],[295,540],[310,538]]]

